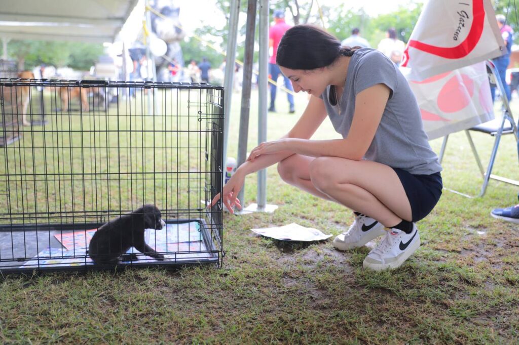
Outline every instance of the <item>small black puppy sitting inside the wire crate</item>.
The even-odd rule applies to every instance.
[[[103,224],[90,240],[88,255],[98,264],[118,264],[121,261],[136,260],[135,254],[124,255],[135,247],[141,253],[163,260],[164,255],[156,252],[144,241],[144,229],[160,230],[166,223],[155,205],[144,205],[135,211],[121,215]]]

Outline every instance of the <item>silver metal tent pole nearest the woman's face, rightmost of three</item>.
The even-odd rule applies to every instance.
[[[268,0],[260,0],[260,76],[258,80],[258,144],[267,141]],[[267,170],[258,171],[258,209],[267,204]]]

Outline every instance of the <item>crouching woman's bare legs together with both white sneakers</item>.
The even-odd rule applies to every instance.
[[[374,270],[397,268],[420,246],[418,231],[408,233],[384,232],[402,220],[412,221],[412,210],[397,173],[389,166],[352,161],[339,157],[305,157],[292,155],[278,164],[280,176],[286,182],[313,195],[333,200],[375,220],[364,229],[356,218],[347,233],[335,237],[333,245],[339,250],[363,246],[384,233],[380,245],[364,259],[363,267]],[[413,230],[416,225],[413,225]],[[406,243],[404,247],[402,244]],[[388,247],[389,246],[389,247]],[[389,250],[388,250],[389,248]]]

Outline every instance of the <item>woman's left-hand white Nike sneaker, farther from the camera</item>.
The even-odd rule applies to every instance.
[[[367,215],[355,215],[355,221],[346,233],[337,235],[333,246],[338,250],[350,250],[364,246],[367,242],[384,235],[384,225]]]

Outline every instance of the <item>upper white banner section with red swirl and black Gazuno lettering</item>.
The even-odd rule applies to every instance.
[[[404,52],[409,80],[493,59],[506,51],[490,0],[431,0]],[[506,48],[505,48],[506,49]]]

